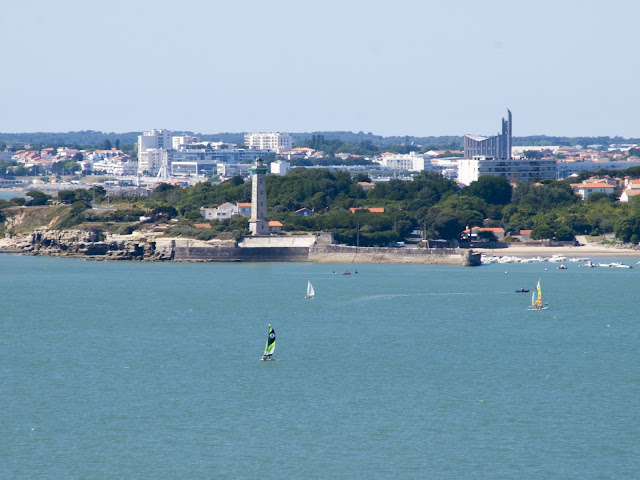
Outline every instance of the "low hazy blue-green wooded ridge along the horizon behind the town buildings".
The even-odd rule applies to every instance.
[[[242,144],[244,142],[244,132],[221,132],[221,133],[194,133],[187,131],[175,131],[175,135],[194,135],[201,140],[218,141]],[[78,146],[93,147],[109,140],[112,145],[119,142],[120,145],[133,145],[138,141],[138,135],[142,132],[98,132],[94,130],[80,130],[78,132],[31,132],[31,133],[0,133],[0,142],[7,145],[15,143],[21,144],[42,144],[42,146]],[[421,145],[423,147],[430,146],[437,149],[461,150],[461,136],[391,136],[383,137],[382,135],[374,135],[371,132],[302,132],[291,133],[294,144],[300,145],[311,139],[313,135],[322,135],[325,140],[340,140],[349,145],[355,145],[360,142],[371,142],[372,144],[384,147],[388,145]],[[532,145],[604,145],[618,143],[634,143],[640,144],[640,138],[622,138],[622,137],[553,137],[546,135],[534,135],[528,137],[513,137],[514,146]]]

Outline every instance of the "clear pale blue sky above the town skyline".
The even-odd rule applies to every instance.
[[[640,137],[632,0],[20,0],[0,132]]]

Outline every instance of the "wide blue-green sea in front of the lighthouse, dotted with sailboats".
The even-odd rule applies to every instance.
[[[0,255],[0,478],[638,478],[640,265],[591,260]]]

